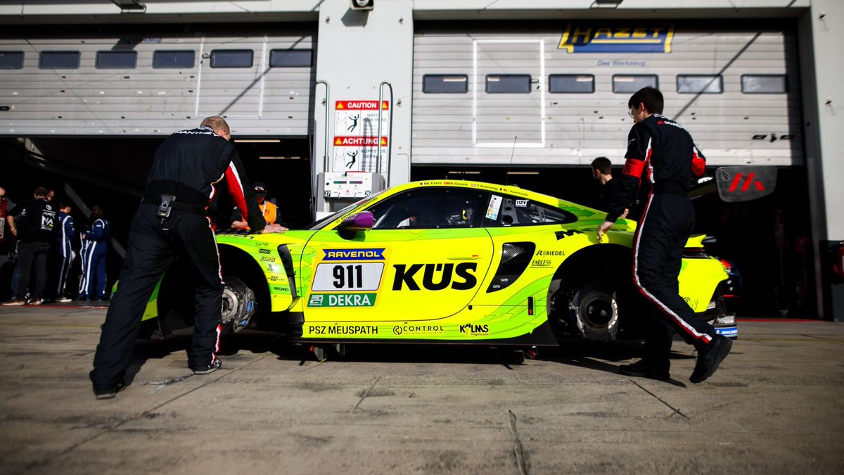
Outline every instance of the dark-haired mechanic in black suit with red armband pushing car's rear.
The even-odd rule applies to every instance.
[[[706,161],[691,135],[679,123],[663,117],[659,90],[638,90],[627,106],[634,122],[627,136],[627,161],[617,178],[619,187],[606,221],[598,227],[598,241],[634,199],[641,177],[646,177],[652,186],[633,238],[633,280],[657,311],[645,338],[644,358],[619,366],[619,373],[667,380],[671,341],[677,331],[697,350],[690,381],[700,383],[715,373],[733,346],[733,341],[718,335],[679,296],[677,278],[683,249],[695,226],[695,208],[686,192],[692,175],[703,175]]]

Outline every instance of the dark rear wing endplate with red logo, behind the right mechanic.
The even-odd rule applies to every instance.
[[[718,167],[715,176],[706,175],[692,185],[689,196],[715,192],[722,201],[735,203],[762,198],[776,187],[776,167]]]

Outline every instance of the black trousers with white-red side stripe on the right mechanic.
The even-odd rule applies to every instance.
[[[668,369],[675,332],[698,348],[715,336],[715,329],[679,296],[683,249],[694,227],[695,208],[684,194],[651,194],[633,239],[633,278],[654,306],[647,316],[645,359],[661,369]]]

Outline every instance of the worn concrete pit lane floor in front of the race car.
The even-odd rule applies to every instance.
[[[88,371],[104,308],[0,308],[0,473],[841,473],[844,325],[740,321],[711,379],[617,374],[636,343],[522,365],[484,347],[369,345],[319,363],[265,332],[140,341],[115,399]],[[307,356],[307,355],[305,355]]]

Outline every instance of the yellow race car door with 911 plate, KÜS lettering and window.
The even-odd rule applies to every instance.
[[[308,242],[308,322],[443,319],[468,305],[492,260],[479,226],[488,194],[419,187],[371,207],[375,225],[354,237],[316,232]]]

